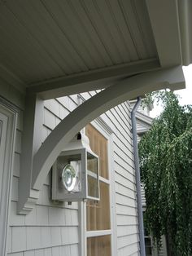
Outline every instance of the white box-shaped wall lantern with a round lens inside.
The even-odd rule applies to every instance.
[[[52,199],[99,200],[98,156],[89,147],[86,135],[76,135],[52,166]]]

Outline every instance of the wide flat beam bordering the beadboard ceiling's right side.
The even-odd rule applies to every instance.
[[[146,6],[151,20],[161,67],[181,65],[177,1],[146,0]]]

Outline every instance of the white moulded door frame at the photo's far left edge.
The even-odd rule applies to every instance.
[[[18,109],[12,106],[6,99],[0,98],[0,113],[7,122],[7,134],[5,143],[4,165],[2,171],[2,196],[0,207],[0,254],[7,255],[7,230],[9,223],[10,201],[11,201],[11,180],[14,161],[15,132]],[[3,124],[2,124],[3,126]]]

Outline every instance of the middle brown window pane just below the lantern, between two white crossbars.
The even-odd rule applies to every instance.
[[[100,182],[100,201],[87,202],[87,231],[110,228],[109,185]]]

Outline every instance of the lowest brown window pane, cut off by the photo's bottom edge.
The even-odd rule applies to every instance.
[[[111,256],[111,236],[89,237],[87,256]]]

